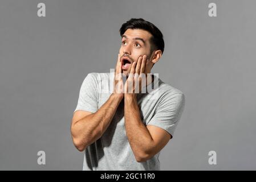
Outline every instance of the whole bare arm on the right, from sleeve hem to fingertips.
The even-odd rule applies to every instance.
[[[132,64],[131,73],[138,75],[145,73],[146,57],[139,57],[137,63]],[[125,130],[129,144],[137,162],[145,162],[156,155],[168,143],[172,136],[160,127],[145,126],[141,121],[140,109],[136,99],[136,82],[140,77],[128,77],[124,88],[130,92],[124,94]],[[132,84],[131,84],[132,83]],[[129,85],[133,85],[129,89]],[[137,86],[140,86],[137,84]],[[140,88],[141,89],[141,88]]]

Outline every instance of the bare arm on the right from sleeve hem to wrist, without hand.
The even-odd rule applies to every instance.
[[[145,162],[156,155],[172,136],[156,126],[145,126],[141,121],[136,97],[124,97],[125,130],[137,162]]]

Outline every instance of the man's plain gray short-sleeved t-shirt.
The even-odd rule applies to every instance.
[[[154,76],[152,90],[139,93],[137,102],[141,121],[172,136],[184,110],[184,94]],[[76,110],[95,113],[112,93],[114,73],[89,73],[82,83]],[[155,86],[156,85],[156,86]],[[75,112],[74,111],[74,112]],[[124,125],[124,100],[105,133],[85,150],[83,170],[160,170],[159,153],[146,162],[137,162],[128,142]]]

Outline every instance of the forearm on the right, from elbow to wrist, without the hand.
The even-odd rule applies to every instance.
[[[148,155],[153,139],[147,127],[141,121],[140,109],[136,97],[124,97],[125,130],[136,159]]]

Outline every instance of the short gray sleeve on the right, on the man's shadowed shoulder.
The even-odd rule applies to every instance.
[[[180,120],[184,106],[185,96],[183,93],[164,94],[164,96],[160,98],[155,115],[153,115],[153,118],[147,125],[160,127],[168,131],[173,137],[174,130]]]

